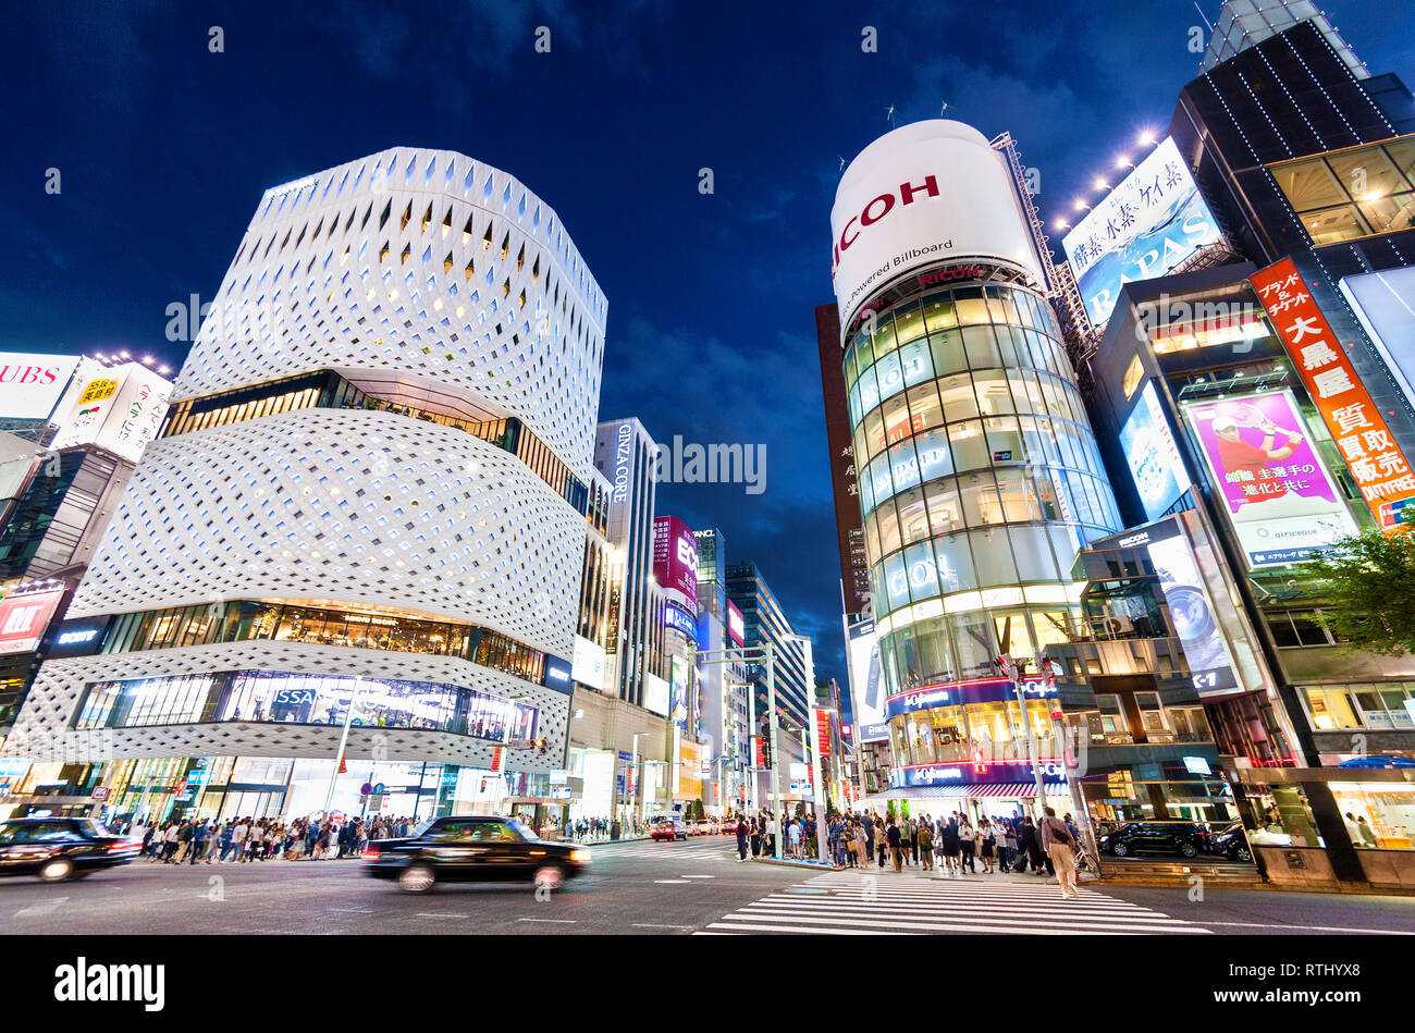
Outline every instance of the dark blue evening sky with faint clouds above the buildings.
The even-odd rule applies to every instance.
[[[1373,71],[1415,65],[1388,4],[1329,13]],[[1012,132],[1050,224],[1169,123],[1200,18],[1190,0],[18,0],[6,21],[0,348],[180,364],[166,308],[211,299],[266,187],[392,146],[488,161],[559,212],[608,297],[601,417],[767,446],[764,494],[668,485],[659,508],[756,559],[843,678],[814,324],[841,158],[890,105],[903,125],[947,102]]]

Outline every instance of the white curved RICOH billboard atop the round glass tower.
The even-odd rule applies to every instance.
[[[886,283],[945,259],[1002,262],[1041,283],[1005,158],[961,122],[916,122],[860,151],[831,231],[842,325]]]

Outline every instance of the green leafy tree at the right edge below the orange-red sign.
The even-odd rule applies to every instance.
[[[1324,549],[1307,567],[1322,624],[1347,650],[1415,654],[1415,533],[1367,531]]]

